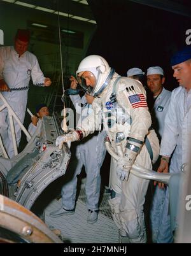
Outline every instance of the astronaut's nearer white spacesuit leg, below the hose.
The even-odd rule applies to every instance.
[[[149,180],[138,178],[133,174],[129,175],[128,181],[122,182],[121,229],[126,232],[130,243],[146,243],[143,204],[148,183]]]

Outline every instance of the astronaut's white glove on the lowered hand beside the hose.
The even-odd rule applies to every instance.
[[[139,152],[125,148],[125,154],[120,157],[117,163],[117,176],[122,181],[127,181],[129,178],[129,172]]]

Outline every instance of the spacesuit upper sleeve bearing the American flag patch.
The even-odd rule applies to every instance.
[[[132,118],[131,130],[129,133],[129,137],[138,139],[140,141],[145,140],[145,136],[148,133],[148,129],[152,124],[151,115],[148,111],[148,106],[146,103],[146,92],[143,85],[136,80],[129,83],[129,87],[133,86],[132,92],[127,92],[127,89],[118,91],[117,101],[119,105],[122,105],[124,109],[130,109],[130,116]],[[118,88],[120,85],[118,86]],[[133,95],[133,94],[134,95]],[[134,104],[133,96],[141,99],[137,104]]]

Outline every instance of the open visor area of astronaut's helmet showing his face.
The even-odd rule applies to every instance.
[[[91,92],[96,84],[96,78],[94,74],[90,71],[85,71],[82,74],[77,74],[77,80],[79,85],[87,90],[87,92]]]

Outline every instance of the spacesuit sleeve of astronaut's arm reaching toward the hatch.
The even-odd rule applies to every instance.
[[[99,98],[95,98],[92,103],[92,113],[83,119],[81,125],[76,127],[76,129],[81,130],[83,132],[83,136],[87,137],[88,134],[94,133],[94,131],[99,131],[101,127],[101,101]]]

